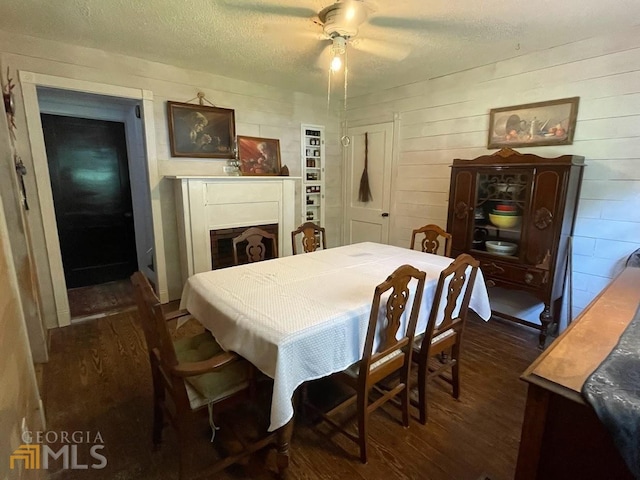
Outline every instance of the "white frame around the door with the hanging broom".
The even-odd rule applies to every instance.
[[[391,124],[391,175],[389,177],[389,222],[387,224],[387,242],[389,242],[389,233],[392,232],[395,228],[395,203],[394,203],[394,198],[395,198],[395,191],[394,191],[394,187],[396,184],[396,178],[398,175],[398,158],[399,158],[399,151],[398,151],[398,142],[399,142],[399,138],[400,138],[400,114],[399,113],[394,113],[393,114],[393,121],[378,121],[375,123],[364,123],[364,122],[357,122],[351,125],[348,125],[347,122],[344,122],[342,125],[343,131],[345,132],[346,135],[349,134],[349,130],[350,129],[354,129],[354,128],[368,128],[368,127],[375,127],[375,126],[379,126],[379,125],[386,125],[386,124]],[[350,191],[349,191],[349,182],[347,181],[347,175],[346,172],[348,169],[351,168],[351,165],[349,164],[350,162],[350,156],[349,156],[349,148],[343,148],[342,149],[343,152],[343,164],[345,165],[345,175],[344,175],[344,179],[343,179],[343,184],[342,184],[342,204],[343,204],[343,211],[342,211],[342,219],[343,219],[343,225],[342,225],[342,244],[346,245],[347,243],[347,217],[348,217],[348,212],[347,209],[349,208],[349,195],[350,195]]]

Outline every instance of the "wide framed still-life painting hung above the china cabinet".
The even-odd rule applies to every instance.
[[[571,145],[580,97],[494,108],[488,148]]]

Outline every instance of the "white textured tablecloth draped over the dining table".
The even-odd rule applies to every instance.
[[[375,287],[408,263],[426,272],[416,333],[424,332],[440,272],[452,259],[391,245],[358,243],[190,277],[186,308],[232,350],[274,379],[273,431],[293,417],[292,396],[307,380],[360,360]],[[478,272],[470,308],[491,308]]]

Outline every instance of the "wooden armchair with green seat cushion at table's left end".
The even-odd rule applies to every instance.
[[[156,448],[162,442],[164,419],[176,429],[179,446],[179,478],[210,476],[268,445],[275,446],[275,434],[265,434],[236,451],[195,471],[195,450],[199,421],[196,413],[208,408],[215,436],[214,416],[242,399],[252,397],[251,364],[234,352],[225,352],[209,332],[173,341],[165,315],[147,278],[141,272],[131,277],[140,321],[144,331],[153,381],[153,435]],[[181,312],[180,314],[183,314]],[[265,429],[266,433],[266,429]],[[213,441],[213,438],[212,438]]]

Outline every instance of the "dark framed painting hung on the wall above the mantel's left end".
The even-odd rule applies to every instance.
[[[233,158],[234,110],[167,102],[167,114],[171,156]]]

